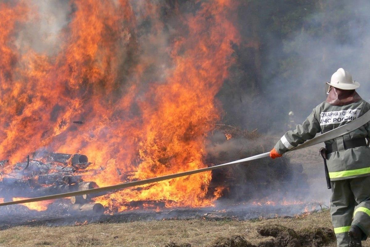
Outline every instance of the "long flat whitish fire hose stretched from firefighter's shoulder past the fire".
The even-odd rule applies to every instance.
[[[324,141],[329,141],[329,140],[332,140],[336,137],[343,136],[344,134],[347,134],[347,133],[349,133],[353,130],[356,130],[357,128],[363,126],[364,124],[366,124],[369,121],[370,121],[370,111],[367,111],[365,114],[363,114],[358,119],[355,119],[355,120],[351,121],[350,123],[344,124],[343,126],[335,128],[333,130],[330,130],[330,131],[328,131],[324,134],[316,136],[313,139],[308,140],[305,143],[303,143],[303,144],[301,144],[301,145],[299,145],[295,148],[292,148],[289,151],[310,147],[310,146],[322,143]],[[248,157],[248,158],[243,158],[241,160],[231,161],[231,162],[220,164],[220,165],[217,165],[217,166],[205,167],[205,168],[196,169],[196,170],[192,170],[192,171],[184,171],[184,172],[181,172],[181,173],[175,173],[175,174],[170,174],[170,175],[165,175],[165,176],[160,176],[160,177],[154,177],[154,178],[147,178],[147,179],[143,179],[143,180],[139,180],[139,181],[127,182],[127,183],[122,183],[122,184],[106,186],[106,187],[92,188],[92,189],[80,190],[80,191],[73,191],[73,192],[55,194],[55,195],[50,195],[50,196],[40,196],[40,197],[28,198],[28,199],[18,200],[18,201],[9,201],[9,202],[5,202],[5,203],[0,203],[0,206],[7,206],[7,205],[21,204],[21,203],[31,203],[31,202],[35,202],[35,201],[52,200],[52,199],[70,197],[70,196],[81,196],[81,195],[90,194],[90,193],[101,193],[101,192],[105,192],[105,191],[120,190],[120,189],[123,189],[123,188],[139,186],[139,185],[143,185],[143,184],[155,183],[155,182],[168,180],[168,179],[172,179],[172,178],[176,178],[176,177],[189,176],[189,175],[192,175],[192,174],[201,173],[203,171],[211,171],[211,170],[215,170],[215,169],[218,169],[218,168],[222,168],[222,167],[226,167],[226,166],[230,166],[230,165],[233,165],[233,164],[238,164],[238,163],[242,163],[242,162],[246,162],[246,161],[257,160],[259,158],[268,157],[269,154],[270,154],[270,152],[266,152],[266,153],[263,153],[263,154],[258,154],[258,155],[251,156],[251,157]]]

